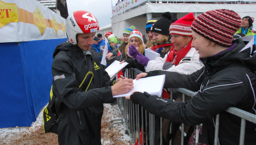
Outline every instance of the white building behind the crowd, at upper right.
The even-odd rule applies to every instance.
[[[163,3],[163,2],[166,3]],[[146,36],[145,26],[151,18],[161,18],[162,13],[170,11],[176,18],[181,18],[188,13],[194,13],[195,17],[209,10],[229,9],[238,15],[249,15],[256,18],[256,0],[235,1],[207,1],[207,0],[183,0],[183,1],[150,1],[150,0],[124,0],[112,8],[112,24],[100,28],[101,33],[111,31],[117,37],[122,37],[123,30],[135,26],[137,30]],[[159,2],[159,3],[156,3]],[[254,21],[254,26],[256,20]]]

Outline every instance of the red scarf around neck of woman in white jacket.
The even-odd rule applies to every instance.
[[[170,50],[169,55],[167,56],[166,62],[169,61],[170,63],[174,65],[178,65],[180,63],[180,60],[187,55],[188,51],[191,49],[191,42],[188,43],[187,46],[185,46],[183,49],[180,49],[179,51],[175,51],[174,45],[172,45],[172,48]]]

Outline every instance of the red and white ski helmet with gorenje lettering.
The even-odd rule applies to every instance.
[[[96,32],[99,29],[100,26],[98,26],[98,20],[88,11],[74,11],[66,20],[68,42],[74,45],[77,44],[77,34]]]

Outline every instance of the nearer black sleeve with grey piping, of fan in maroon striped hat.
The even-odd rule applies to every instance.
[[[212,120],[212,117],[229,107],[236,106],[246,96],[243,82],[233,74],[230,76],[232,80],[230,77],[220,77],[218,81],[209,82],[187,102],[147,97],[144,93],[135,93],[134,97],[140,97],[139,105],[151,114],[185,125],[199,125],[208,119]]]

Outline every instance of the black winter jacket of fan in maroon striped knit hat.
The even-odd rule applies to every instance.
[[[255,91],[256,51],[253,43],[245,47],[241,39],[232,50],[201,59],[205,67],[190,75],[167,71],[148,72],[146,77],[166,74],[166,88],[186,88],[197,94],[187,102],[173,102],[145,93],[131,95],[148,112],[185,125],[207,126],[209,144],[214,144],[214,126],[220,114],[218,142],[220,145],[239,144],[241,118],[226,112],[237,107],[256,114]],[[250,47],[252,46],[252,47]],[[246,48],[243,51],[242,48]],[[241,52],[240,52],[241,51]],[[246,121],[245,144],[256,144],[256,125]]]

